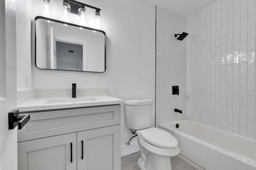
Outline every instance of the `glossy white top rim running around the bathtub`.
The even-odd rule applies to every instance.
[[[225,149],[222,149],[221,147],[218,147],[216,145],[213,145],[211,143],[208,143],[206,141],[203,141],[202,139],[198,139],[196,137],[193,137],[192,135],[189,135],[187,133],[184,133],[182,131],[179,131],[178,128],[174,128],[174,127],[171,127],[169,126],[169,128],[165,127],[166,125],[173,125],[173,124],[176,124],[176,123],[181,123],[181,122],[189,122],[189,123],[194,123],[194,124],[199,124],[200,126],[203,126],[203,127],[210,127],[212,129],[216,129],[218,131],[221,131],[223,133],[228,133],[230,135],[235,135],[237,137],[242,137],[244,139],[247,139],[247,140],[250,140],[250,141],[254,141],[256,142],[256,139],[252,139],[252,138],[249,138],[249,137],[244,137],[242,135],[238,135],[236,133],[232,133],[232,132],[229,132],[229,131],[224,131],[222,129],[218,129],[216,127],[211,127],[211,126],[208,126],[208,125],[204,125],[202,123],[198,123],[198,122],[195,122],[195,121],[191,121],[191,120],[188,120],[188,119],[185,119],[185,120],[181,120],[181,121],[175,121],[175,122],[172,122],[172,123],[164,123],[162,125],[160,125],[160,129],[162,129],[162,127],[166,128],[166,129],[170,129],[170,131],[173,131],[174,133],[178,133],[179,135],[182,135],[184,137],[187,137],[188,139],[191,139],[191,140],[194,140],[194,141],[197,141],[198,143],[202,144],[202,145],[205,145],[205,146],[208,146],[210,147],[211,149],[214,149],[214,150],[217,150],[219,152],[221,152],[222,154],[226,154],[228,156],[231,156],[232,158],[238,160],[238,161],[241,161],[241,162],[244,162],[246,164],[249,164],[250,166],[253,166],[256,168],[256,160],[252,160],[250,158],[246,158],[245,156],[242,156],[240,154],[236,154],[234,152],[230,152],[228,150],[225,150]],[[169,132],[170,133],[170,132]]]

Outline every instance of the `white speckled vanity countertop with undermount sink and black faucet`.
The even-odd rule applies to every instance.
[[[79,101],[83,99],[89,100],[89,101]],[[58,101],[58,100],[62,100],[62,101]],[[49,102],[54,102],[54,103],[49,103]],[[114,105],[114,104],[121,104],[123,102],[124,100],[122,99],[113,98],[110,96],[86,96],[86,97],[78,97],[78,98],[37,98],[37,99],[30,100],[26,103],[20,104],[17,107],[20,110],[20,112],[24,112],[24,111],[41,111],[41,110],[65,109],[65,108],[76,108],[76,107]]]

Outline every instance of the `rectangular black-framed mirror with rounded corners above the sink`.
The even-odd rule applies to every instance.
[[[41,69],[104,72],[104,31],[44,17],[35,19],[35,64]]]

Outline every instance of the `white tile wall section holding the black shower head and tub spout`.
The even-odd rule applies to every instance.
[[[174,34],[186,32],[186,24],[186,18],[156,7],[156,127],[186,119],[187,37],[183,41],[174,37]],[[197,65],[194,68],[201,74]],[[172,95],[172,86],[179,86],[180,95]],[[182,109],[183,113],[174,112],[175,108]]]

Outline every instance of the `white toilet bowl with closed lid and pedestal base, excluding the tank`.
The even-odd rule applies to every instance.
[[[155,127],[136,131],[136,134],[140,145],[140,169],[171,170],[170,158],[180,153],[175,137]]]

